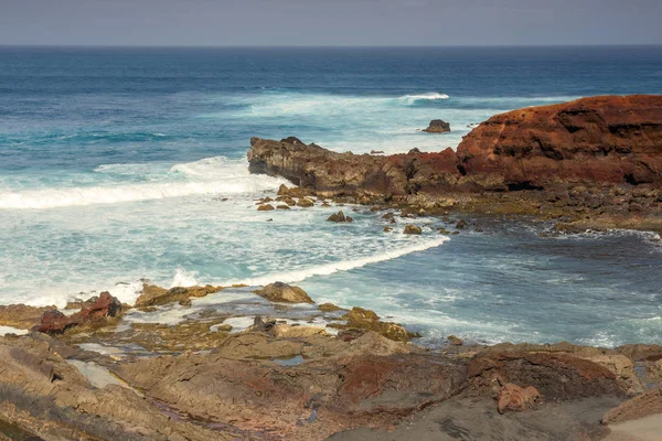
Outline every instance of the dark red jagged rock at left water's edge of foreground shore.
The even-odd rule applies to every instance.
[[[98,300],[88,308],[83,308],[73,315],[65,315],[60,311],[46,311],[41,319],[41,323],[33,327],[33,331],[46,334],[61,334],[72,326],[82,323],[94,322],[99,319],[113,318],[121,312],[119,300],[110,295],[109,292],[102,292]]]

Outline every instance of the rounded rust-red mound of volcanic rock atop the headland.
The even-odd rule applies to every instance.
[[[473,184],[521,190],[558,182],[662,184],[662,96],[600,96],[496,115],[458,158]]]

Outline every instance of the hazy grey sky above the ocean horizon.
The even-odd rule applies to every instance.
[[[662,0],[0,0],[0,44],[662,44]]]

